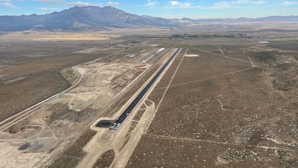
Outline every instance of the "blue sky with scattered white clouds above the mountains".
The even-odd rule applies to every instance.
[[[46,14],[75,5],[113,6],[133,14],[178,19],[183,17],[199,19],[298,15],[298,0],[0,0],[0,15]]]

